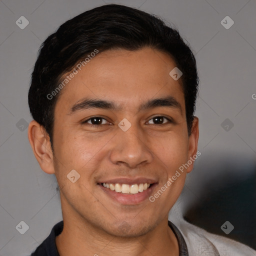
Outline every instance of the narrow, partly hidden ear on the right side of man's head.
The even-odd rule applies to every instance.
[[[197,151],[197,143],[199,137],[199,128],[198,128],[198,117],[194,116],[192,127],[191,127],[191,134],[188,137],[188,154],[187,154],[187,161],[191,161],[192,163],[186,169],[186,172],[190,172],[194,166],[194,160],[201,154],[201,152]],[[188,162],[188,163],[189,163]]]

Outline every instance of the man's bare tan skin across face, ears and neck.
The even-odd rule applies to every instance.
[[[28,138],[34,155],[43,171],[55,173],[60,187],[64,221],[56,237],[60,256],[178,255],[177,240],[167,225],[168,212],[193,164],[154,202],[145,199],[124,205],[97,184],[120,176],[154,178],[153,195],[196,154],[198,118],[188,136],[181,81],[169,75],[175,66],[169,55],[151,48],[99,52],[61,90],[54,109],[54,154],[44,128],[30,122]],[[138,111],[142,102],[166,95],[173,96],[181,109],[157,106]],[[84,97],[111,100],[122,109],[68,114]],[[95,115],[104,118],[102,124],[93,126],[91,119],[81,123]],[[164,118],[159,124],[155,116],[173,122]],[[131,123],[125,132],[118,127],[123,118]],[[80,174],[74,183],[66,177],[72,169]]]

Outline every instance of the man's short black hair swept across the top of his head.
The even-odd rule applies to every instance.
[[[49,135],[52,146],[54,107],[60,93],[49,99],[69,72],[87,54],[97,49],[138,50],[151,47],[169,54],[182,71],[187,130],[190,135],[197,96],[198,76],[195,57],[177,29],[159,17],[118,4],[87,10],[64,22],[41,44],[31,75],[28,104],[35,121]],[[52,147],[53,149],[53,147]]]

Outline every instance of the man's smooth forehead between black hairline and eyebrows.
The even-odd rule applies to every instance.
[[[141,101],[166,95],[175,97],[183,106],[181,80],[169,75],[174,67],[175,62],[167,53],[151,48],[99,52],[77,69],[77,74],[61,90],[56,107],[61,102],[73,104],[83,97],[136,107]]]

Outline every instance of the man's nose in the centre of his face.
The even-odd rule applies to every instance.
[[[110,160],[113,164],[125,164],[129,168],[139,167],[152,161],[148,138],[138,125],[131,125],[126,131],[117,129],[112,141]]]

